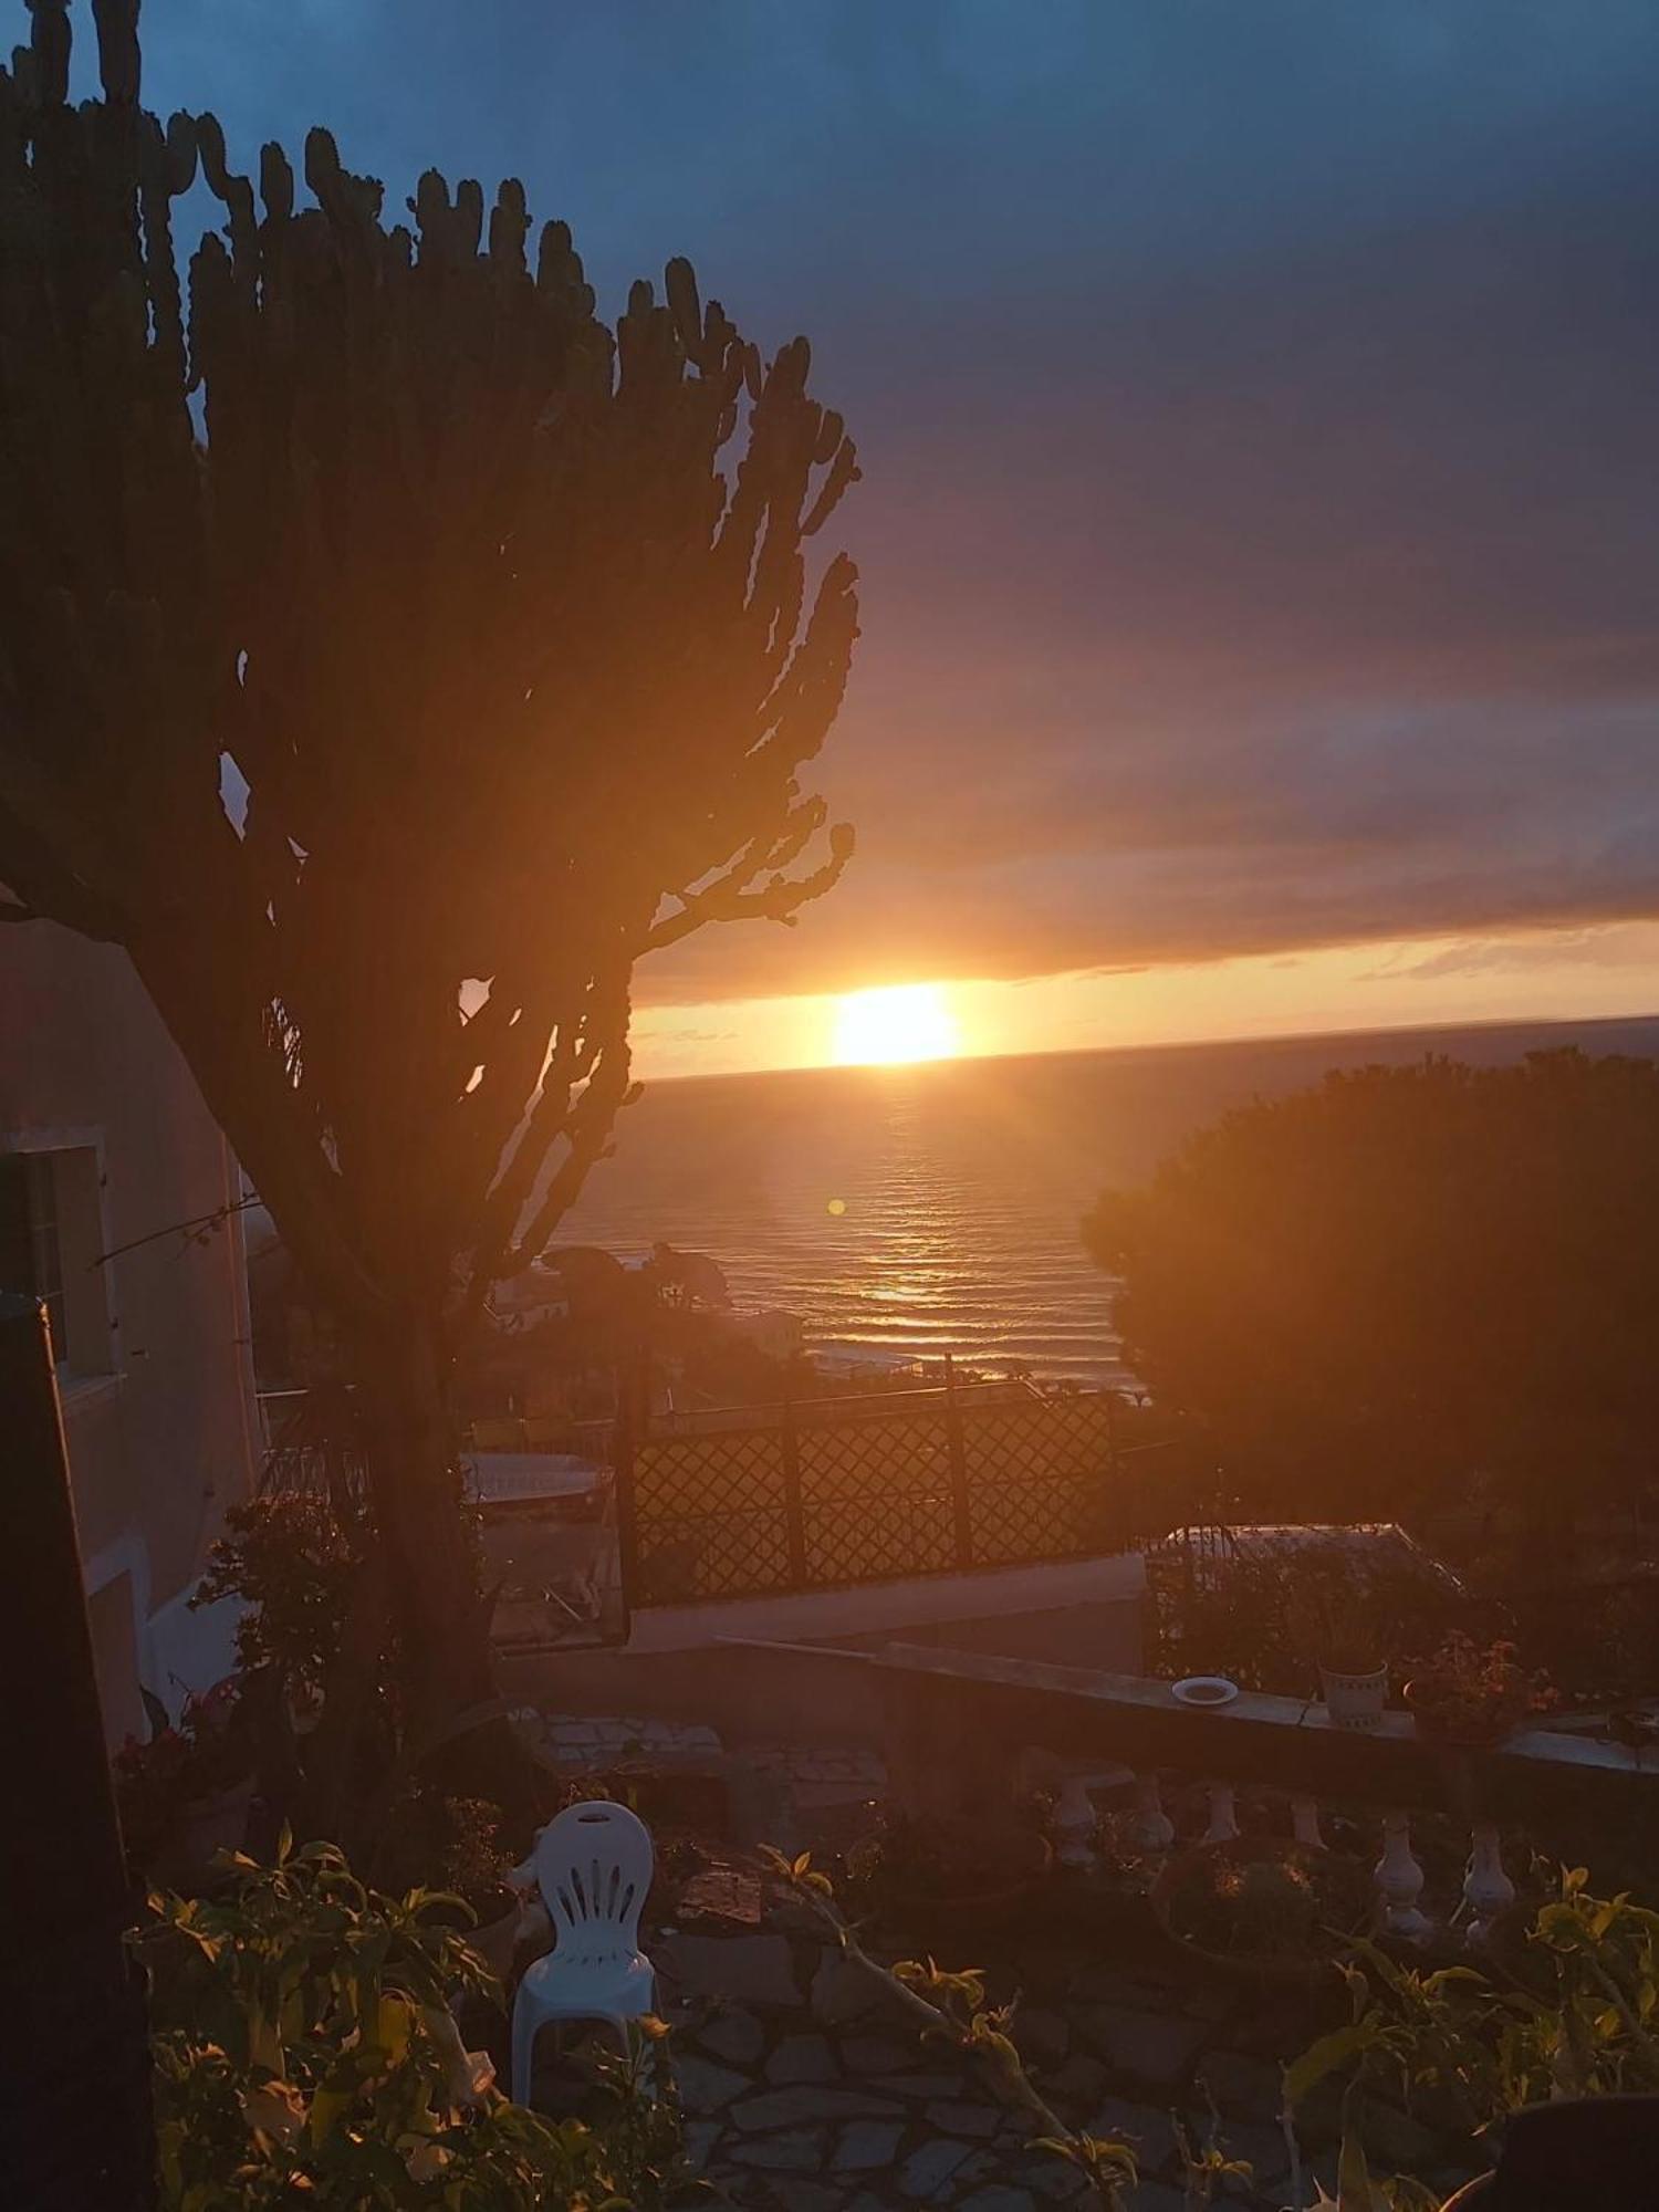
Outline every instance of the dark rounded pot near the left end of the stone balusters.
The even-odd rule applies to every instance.
[[[894,1816],[847,1856],[854,1880],[920,1942],[1013,1922],[1053,1867],[1048,1840],[1013,1820]]]

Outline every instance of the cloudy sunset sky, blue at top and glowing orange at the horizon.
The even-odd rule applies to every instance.
[[[1650,0],[150,0],[146,97],[812,336],[860,852],[641,969],[646,1073],[883,982],[967,1051],[1659,1006]]]

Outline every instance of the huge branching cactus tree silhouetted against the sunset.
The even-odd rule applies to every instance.
[[[628,1088],[635,960],[827,889],[799,794],[856,635],[805,540],[856,478],[686,261],[615,332],[429,170],[411,226],[305,142],[314,206],[139,106],[135,0],[0,73],[0,883],[124,945],[374,1422],[409,1694],[489,1692],[445,1378]],[[181,296],[173,201],[226,208]],[[201,414],[192,414],[199,394]],[[737,447],[732,478],[721,458]],[[234,774],[226,774],[228,768]],[[221,790],[246,785],[246,810]]]

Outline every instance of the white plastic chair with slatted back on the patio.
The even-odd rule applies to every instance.
[[[626,1805],[593,1798],[549,1820],[531,1854],[553,1920],[553,1949],[524,1969],[513,2000],[513,2101],[531,2101],[535,2037],[551,2020],[626,2024],[657,2008],[657,1973],[639,1949],[655,1865],[650,1829]]]

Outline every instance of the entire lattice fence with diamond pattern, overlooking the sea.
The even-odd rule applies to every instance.
[[[1110,1391],[891,1413],[781,1407],[617,1453],[635,1606],[832,1590],[1130,1551],[1170,1526]],[[1164,1484],[1159,1484],[1164,1491]],[[1159,1517],[1161,1513],[1161,1517]]]

